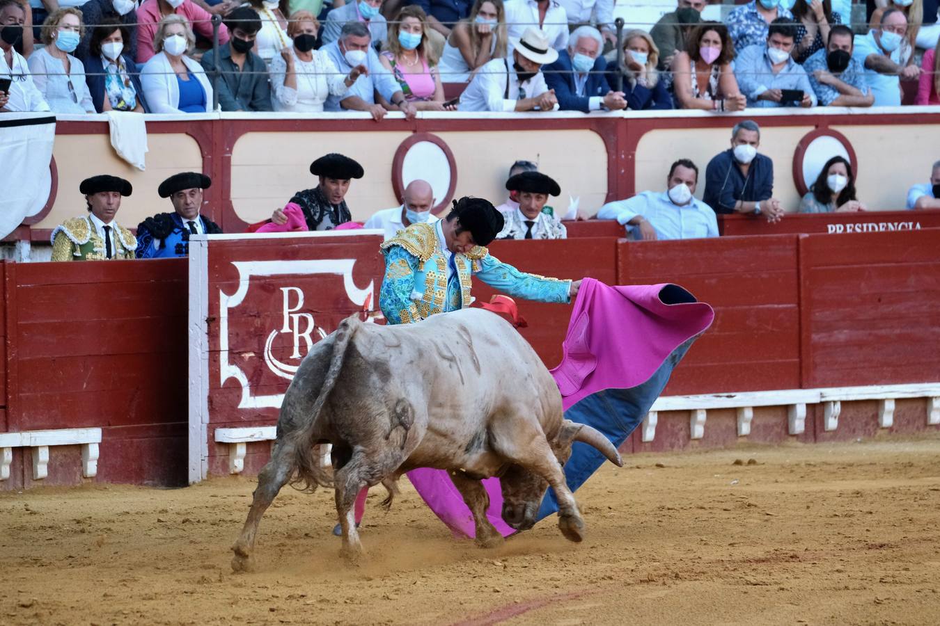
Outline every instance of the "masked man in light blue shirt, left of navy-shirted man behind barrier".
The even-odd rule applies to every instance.
[[[718,221],[711,206],[693,195],[698,168],[680,159],[669,168],[666,192],[643,191],[633,198],[601,207],[599,220],[617,220],[635,239],[695,239],[718,237]]]

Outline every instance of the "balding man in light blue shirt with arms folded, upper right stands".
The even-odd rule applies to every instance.
[[[913,81],[920,76],[920,68],[908,65],[910,46],[901,47],[906,34],[907,18],[891,8],[882,14],[878,28],[868,35],[855,36],[853,56],[865,67],[865,80],[875,96],[875,106],[901,106],[901,78]]]

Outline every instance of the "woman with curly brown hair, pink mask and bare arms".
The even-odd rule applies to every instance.
[[[689,33],[685,51],[672,61],[672,93],[677,109],[743,111],[747,99],[731,69],[734,44],[728,26],[703,22]]]

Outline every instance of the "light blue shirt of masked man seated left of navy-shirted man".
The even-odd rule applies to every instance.
[[[637,215],[650,222],[659,239],[718,237],[718,220],[711,206],[697,198],[679,206],[666,191],[642,191],[633,198],[607,203],[598,211],[597,218],[617,220],[636,235],[639,227],[627,222]]]

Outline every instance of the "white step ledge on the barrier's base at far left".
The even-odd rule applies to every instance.
[[[49,449],[55,446],[82,446],[82,476],[94,478],[98,475],[98,444],[101,442],[101,428],[0,433],[0,481],[9,480],[14,448],[32,448],[33,480],[46,478],[49,475]]]

